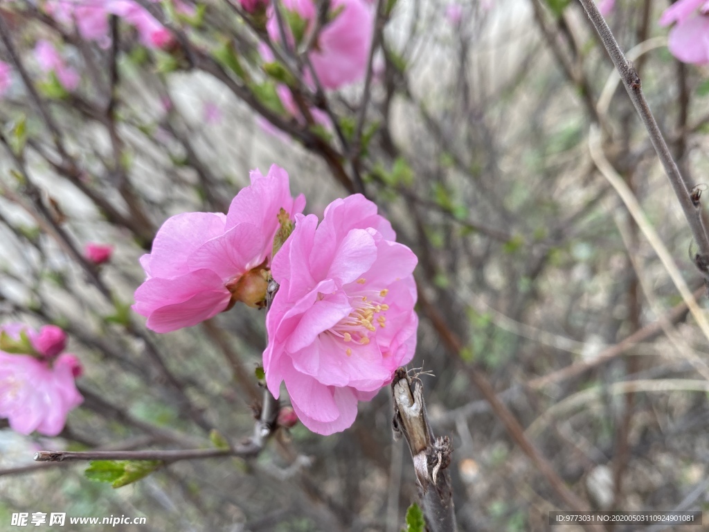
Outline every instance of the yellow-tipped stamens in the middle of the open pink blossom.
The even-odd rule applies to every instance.
[[[366,282],[366,279],[357,280],[358,284]],[[386,326],[386,311],[389,310],[389,305],[384,303],[384,300],[388,292],[389,290],[386,288],[383,290],[362,289],[347,294],[350,296],[352,312],[331,328],[330,333],[342,338],[345,343],[345,354],[348,357],[352,355],[350,347],[353,345],[352,343],[367,345],[371,341],[370,336],[376,335],[377,328]]]

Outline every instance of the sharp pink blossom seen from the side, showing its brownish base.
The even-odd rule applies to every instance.
[[[167,219],[140,264],[147,279],[133,309],[158,333],[194,326],[236,301],[260,306],[278,214],[303,211],[305,197],[291,196],[288,174],[273,165],[267,176],[252,170],[251,184],[228,214],[191,212]]]

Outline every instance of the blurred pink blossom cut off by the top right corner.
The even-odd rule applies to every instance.
[[[660,26],[676,23],[669,31],[667,48],[686,63],[709,63],[709,1],[679,0],[665,9]]]

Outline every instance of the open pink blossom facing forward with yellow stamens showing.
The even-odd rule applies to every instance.
[[[280,288],[266,318],[266,382],[275,397],[285,382],[313,432],[351,426],[357,401],[413,358],[417,259],[395,238],[376,205],[355,194],[333,201],[320,226],[314,215],[296,216],[274,257]]]

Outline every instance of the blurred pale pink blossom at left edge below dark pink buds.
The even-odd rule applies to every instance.
[[[37,334],[16,323],[2,328],[16,340],[23,329],[30,338],[43,338],[44,334],[45,339],[50,339],[56,334],[53,329],[43,333],[46,327]],[[58,345],[50,342],[48,348]],[[74,383],[75,375],[80,373],[78,359],[68,353],[53,360],[39,360],[32,355],[0,351],[0,418],[7,418],[10,428],[21,434],[38,431],[57,436],[69,411],[84,400]]]

